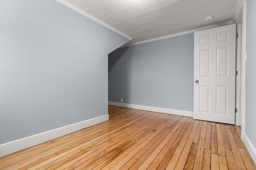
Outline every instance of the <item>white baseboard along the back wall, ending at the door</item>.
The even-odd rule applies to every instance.
[[[194,116],[193,111],[174,110],[174,109],[166,109],[161,107],[143,106],[143,105],[127,104],[127,103],[119,103],[119,102],[108,102],[108,105],[127,107],[131,109],[139,109],[139,110],[146,110],[146,111],[154,111],[159,113],[168,113],[172,115],[180,115],[180,116],[188,116],[188,117]]]

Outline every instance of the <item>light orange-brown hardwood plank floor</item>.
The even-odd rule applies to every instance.
[[[0,169],[255,170],[238,126],[109,106],[110,120],[0,158]]]

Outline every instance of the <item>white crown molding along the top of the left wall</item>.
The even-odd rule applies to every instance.
[[[99,20],[98,18],[95,18],[94,16],[88,14],[87,12],[84,12],[83,10],[77,8],[76,6],[74,6],[73,4],[70,4],[69,2],[66,2],[65,0],[56,0],[57,2],[60,2],[61,4],[67,6],[68,8],[71,8],[72,10],[82,14],[83,16],[86,16],[87,18],[99,23],[100,25],[103,25],[104,27],[118,33],[119,35],[122,35],[123,37],[132,40],[132,37],[129,37],[128,35],[122,33],[121,31],[118,31],[117,29],[115,29],[114,27],[111,27],[110,25],[102,22],[101,20]]]

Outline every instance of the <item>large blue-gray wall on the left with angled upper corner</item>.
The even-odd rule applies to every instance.
[[[0,0],[0,144],[108,114],[128,39],[55,0]]]

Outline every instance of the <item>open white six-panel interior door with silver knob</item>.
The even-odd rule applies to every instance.
[[[194,33],[194,119],[235,123],[236,24]]]

